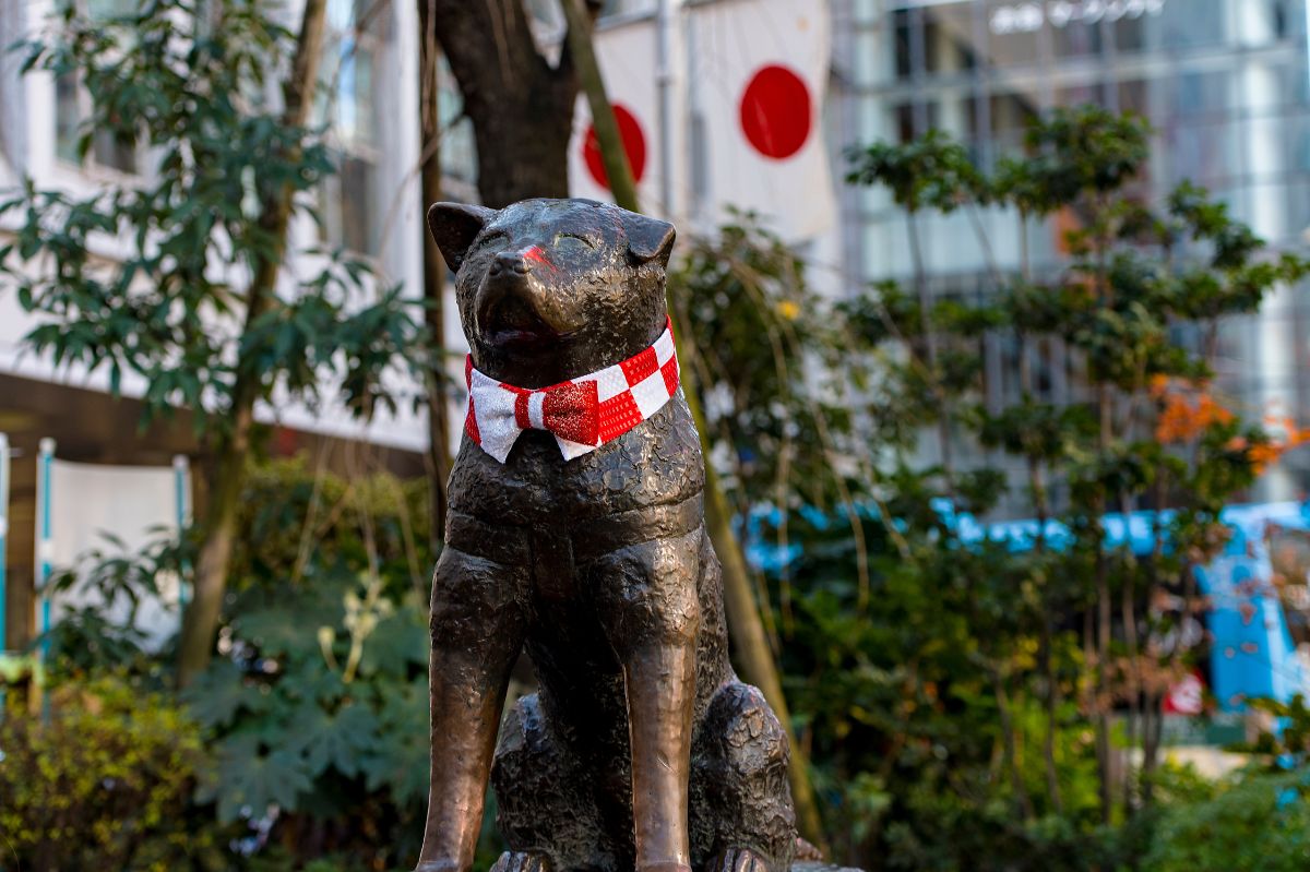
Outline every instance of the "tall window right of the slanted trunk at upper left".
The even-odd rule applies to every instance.
[[[328,128],[337,173],[320,190],[322,240],[377,255],[385,208],[379,179],[380,118],[375,82],[392,41],[390,4],[328,0],[318,120]]]

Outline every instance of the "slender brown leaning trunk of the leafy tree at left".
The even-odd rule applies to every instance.
[[[313,106],[318,82],[318,63],[322,59],[325,0],[305,0],[300,20],[300,37],[291,64],[291,75],[283,94],[286,107],[283,123],[304,127]],[[269,257],[253,264],[253,278],[246,292],[245,329],[242,334],[267,310],[274,300],[278,272],[287,247],[287,225],[291,221],[292,191],[283,186],[261,203],[261,229],[272,240]],[[237,378],[232,388],[232,429],[219,446],[215,460],[217,487],[210,503],[200,543],[200,556],[195,567],[195,590],[182,622],[178,642],[177,683],[185,687],[208,664],[214,653],[214,635],[223,610],[228,567],[236,536],[237,508],[245,484],[246,462],[250,456],[250,431],[254,426],[254,403],[259,398],[259,376],[249,360],[237,360]]]

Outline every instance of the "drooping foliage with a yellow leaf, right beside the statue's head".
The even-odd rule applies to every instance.
[[[853,456],[841,402],[865,373],[844,354],[842,322],[806,284],[804,264],[753,216],[694,241],[669,276],[669,300],[694,336],[692,367],[715,458],[744,499],[799,505],[837,496],[827,473]],[[825,390],[817,390],[816,382]]]

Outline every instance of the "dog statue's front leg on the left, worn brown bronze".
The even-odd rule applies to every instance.
[[[469,872],[510,670],[527,630],[527,572],[447,545],[432,580],[432,780],[417,872]]]

